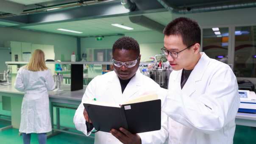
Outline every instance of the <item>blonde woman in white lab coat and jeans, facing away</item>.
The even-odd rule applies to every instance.
[[[35,50],[29,63],[19,69],[14,86],[25,92],[19,127],[23,143],[30,144],[31,133],[37,133],[39,144],[46,144],[46,133],[52,130],[47,91],[55,85],[42,50]]]

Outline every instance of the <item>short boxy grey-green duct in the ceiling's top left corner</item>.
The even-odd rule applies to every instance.
[[[25,5],[13,3],[6,0],[0,0],[0,11],[11,14],[21,14]]]

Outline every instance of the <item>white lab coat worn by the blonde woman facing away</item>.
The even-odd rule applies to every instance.
[[[24,91],[19,132],[47,133],[52,130],[47,91],[55,88],[50,70],[19,69],[14,86]]]

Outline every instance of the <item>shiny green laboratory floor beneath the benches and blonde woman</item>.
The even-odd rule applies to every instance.
[[[0,114],[11,115],[11,112],[2,110],[0,102]],[[75,127],[73,125],[73,116],[75,111],[72,109],[60,110],[61,125],[66,127]],[[10,125],[10,122],[0,120],[0,127]],[[0,132],[0,144],[22,144],[22,137],[18,135],[18,129],[8,129]],[[77,136],[68,133],[60,133],[47,139],[47,144],[93,144],[94,139],[84,136]],[[36,134],[31,136],[31,144],[38,144]],[[234,144],[256,144],[256,127],[245,127],[237,125]]]

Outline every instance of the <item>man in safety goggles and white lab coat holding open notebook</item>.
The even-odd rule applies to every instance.
[[[139,44],[130,37],[122,37],[113,45],[114,71],[95,77],[87,86],[83,99],[75,112],[76,129],[86,136],[91,134],[93,125],[83,108],[86,99],[120,104],[139,97],[148,91],[157,91],[160,86],[138,70],[140,61]],[[166,96],[167,91],[163,90]],[[165,97],[162,97],[162,103]],[[110,133],[95,133],[95,144],[163,144],[168,137],[167,115],[161,114],[161,130],[131,134],[128,130],[112,129]]]

